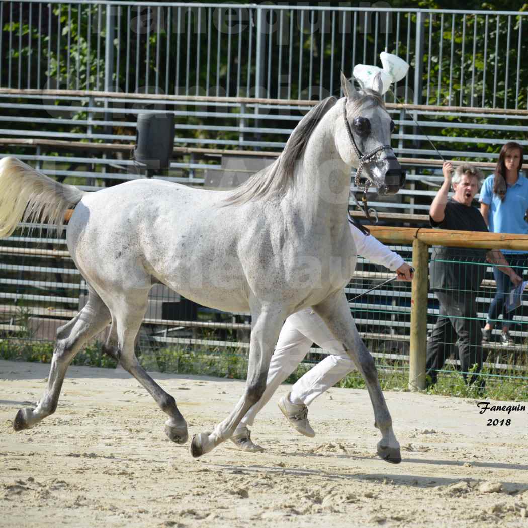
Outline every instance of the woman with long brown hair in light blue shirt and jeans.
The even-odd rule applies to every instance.
[[[506,143],[498,156],[495,173],[488,176],[480,192],[480,212],[492,233],[528,234],[528,180],[522,175],[523,147],[515,142]],[[512,268],[522,275],[528,265],[528,253],[503,251]],[[510,277],[496,267],[493,269],[497,291],[489,306],[482,341],[489,342],[491,333],[502,314],[501,343],[515,344],[510,336],[513,312],[505,310],[505,300],[513,288]]]

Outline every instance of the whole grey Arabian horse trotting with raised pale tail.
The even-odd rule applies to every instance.
[[[68,249],[89,290],[86,306],[59,328],[48,387],[35,409],[18,411],[16,431],[55,412],[74,356],[111,323],[104,351],[168,414],[167,436],[178,444],[187,440],[175,399],[150,378],[134,352],[149,289],[162,282],[196,303],[252,316],[246,389],[213,432],[193,437],[194,457],[232,436],[265,389],[282,323],[311,306],[365,379],[382,435],[378,454],[400,462],[378,373],[344,287],[356,261],[347,222],[351,168],[364,166],[381,193],[398,192],[404,173],[389,145],[393,124],[381,82],[373,90],[355,90],[342,75],[342,87],[346,97],[320,101],[300,120],[277,160],[235,190],[141,179],[83,192],[13,157],[0,161],[0,237],[32,219],[45,219],[61,232],[64,213],[74,206]]]

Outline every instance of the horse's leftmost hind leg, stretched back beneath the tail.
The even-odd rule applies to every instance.
[[[29,429],[57,408],[64,375],[73,358],[91,337],[97,335],[110,322],[110,312],[101,298],[89,287],[88,303],[66,325],[57,331],[57,341],[51,360],[48,387],[36,409],[25,408],[18,411],[13,421],[13,429]]]

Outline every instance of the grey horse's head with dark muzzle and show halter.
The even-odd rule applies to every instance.
[[[340,101],[338,124],[346,130],[337,142],[341,157],[357,169],[356,185],[363,174],[380,194],[397,193],[405,183],[405,172],[390,146],[394,122],[380,96],[381,79],[374,82],[373,90],[355,90],[341,74],[341,86],[346,96]]]

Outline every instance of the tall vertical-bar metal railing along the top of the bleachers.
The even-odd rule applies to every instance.
[[[312,97],[312,93],[324,97],[338,86],[339,70],[350,75],[358,62],[377,63],[384,47],[414,63],[411,77],[402,82],[406,100],[412,90],[414,101],[426,97],[439,104],[451,103],[455,82],[461,106],[496,106],[498,96],[505,108],[518,107],[526,100],[528,73],[520,61],[528,51],[522,37],[525,12],[102,0],[46,4],[46,16],[42,16],[44,2],[37,0],[12,2],[8,9],[0,9],[0,17],[8,20],[0,44],[0,58],[6,59],[0,86],[40,88],[42,63],[47,65],[48,86],[54,82],[67,88],[108,88],[109,77],[114,76],[111,88],[117,91],[129,91],[135,80],[136,92],[149,91],[149,83],[154,82],[150,91],[188,95],[204,83],[208,94],[256,91],[271,96],[280,93],[286,83],[288,97]],[[488,26],[493,17],[495,53],[489,54]],[[257,50],[253,58],[254,33]],[[339,33],[342,56],[336,63]],[[389,33],[395,39],[389,41]],[[48,35],[47,49],[41,46],[44,34]],[[37,40],[37,71],[31,67],[33,39]],[[120,45],[122,41],[125,46]],[[450,43],[449,58],[444,57],[445,41]],[[308,58],[303,52],[305,44]],[[506,50],[504,60],[499,48]],[[511,71],[513,51],[517,54],[515,73]],[[112,54],[114,60],[108,60]],[[331,58],[329,64],[325,55]],[[286,61],[287,77],[282,72]],[[492,68],[493,81],[488,75]],[[469,69],[470,83],[465,82]],[[215,86],[211,86],[211,77]]]

